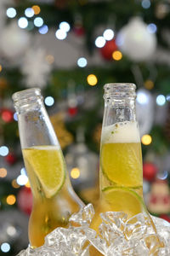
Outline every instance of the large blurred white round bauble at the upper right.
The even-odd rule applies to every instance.
[[[146,61],[156,50],[156,34],[139,17],[133,17],[118,33],[116,43],[132,61]]]

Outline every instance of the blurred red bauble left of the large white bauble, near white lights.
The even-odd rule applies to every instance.
[[[115,39],[112,39],[111,41],[106,41],[105,46],[100,48],[100,54],[106,61],[111,61],[112,54],[116,49],[116,41]]]

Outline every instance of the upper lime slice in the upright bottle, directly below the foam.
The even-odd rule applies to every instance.
[[[140,143],[105,143],[101,149],[102,172],[112,183],[125,187],[142,186]]]

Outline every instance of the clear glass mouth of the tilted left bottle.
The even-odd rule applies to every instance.
[[[33,100],[37,98],[37,96],[41,97],[41,90],[39,88],[31,88],[15,92],[12,96],[12,99],[15,103],[23,100]]]

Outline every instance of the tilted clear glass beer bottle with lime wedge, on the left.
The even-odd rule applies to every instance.
[[[20,144],[31,183],[33,208],[29,220],[29,241],[40,247],[44,236],[66,227],[71,213],[83,207],[71,187],[65,160],[37,88],[14,93]]]

